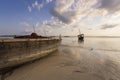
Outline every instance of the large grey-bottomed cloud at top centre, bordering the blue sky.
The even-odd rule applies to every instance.
[[[79,11],[71,8],[73,5],[75,5],[74,0],[56,0],[50,13],[63,23],[72,24],[78,21],[80,17]]]

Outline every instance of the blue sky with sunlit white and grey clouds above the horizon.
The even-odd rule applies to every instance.
[[[0,35],[120,36],[120,0],[0,0]]]

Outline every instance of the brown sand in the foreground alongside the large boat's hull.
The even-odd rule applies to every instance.
[[[72,57],[54,53],[18,68],[6,80],[103,80],[78,65],[79,62],[74,61]]]

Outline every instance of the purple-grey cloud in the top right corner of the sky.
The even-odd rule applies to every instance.
[[[120,10],[120,0],[98,0],[94,7],[114,13]]]

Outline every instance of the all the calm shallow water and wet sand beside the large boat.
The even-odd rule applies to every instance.
[[[120,38],[63,38],[59,51],[6,80],[120,80]]]

